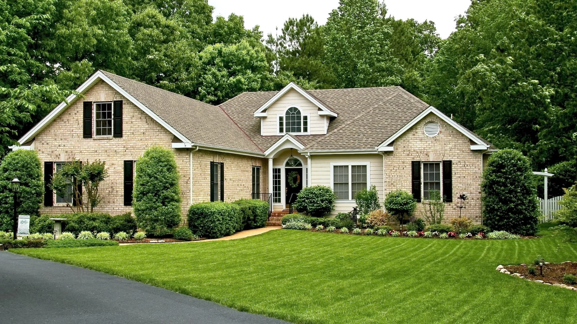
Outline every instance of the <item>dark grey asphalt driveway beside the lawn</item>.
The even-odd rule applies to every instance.
[[[110,274],[0,251],[0,323],[287,322]]]

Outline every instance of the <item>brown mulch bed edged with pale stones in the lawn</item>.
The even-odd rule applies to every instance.
[[[535,281],[539,284],[553,285],[561,288],[577,291],[577,262],[565,261],[563,263],[544,262],[543,276],[538,265],[508,265],[497,266],[497,271],[511,276]]]

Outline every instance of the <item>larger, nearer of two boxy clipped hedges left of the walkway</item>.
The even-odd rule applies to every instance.
[[[229,202],[203,202],[188,210],[190,230],[204,238],[218,239],[241,229],[241,208]]]

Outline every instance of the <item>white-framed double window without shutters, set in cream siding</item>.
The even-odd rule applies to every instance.
[[[353,201],[358,191],[370,186],[370,163],[331,163],[331,187],[336,200]]]

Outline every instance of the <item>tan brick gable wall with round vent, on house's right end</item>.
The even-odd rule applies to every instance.
[[[428,137],[425,123],[439,123],[440,132]],[[469,138],[434,114],[429,114],[395,140],[394,152],[385,153],[385,194],[402,189],[411,192],[411,161],[452,160],[453,202],[445,204],[444,223],[459,217],[459,194],[466,194],[463,215],[481,223],[481,152],[470,148]],[[415,216],[423,217],[424,204],[418,204]]]

